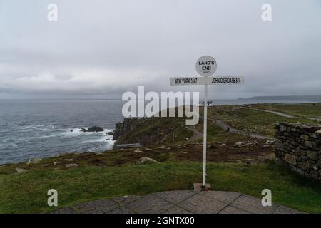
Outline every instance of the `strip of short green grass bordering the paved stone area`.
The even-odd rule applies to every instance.
[[[200,182],[201,162],[162,162],[148,165],[78,167],[68,170],[30,170],[0,175],[0,213],[49,212],[47,191],[58,190],[58,206],[121,195],[146,195],[165,190],[191,190]],[[320,186],[286,167],[208,162],[208,182],[214,190],[262,197],[272,190],[274,203],[305,212],[321,213]]]

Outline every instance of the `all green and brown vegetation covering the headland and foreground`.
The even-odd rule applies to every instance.
[[[285,118],[273,113],[223,105],[208,109],[208,182],[214,190],[243,192],[261,197],[265,188],[272,190],[274,203],[321,213],[320,184],[300,177],[287,167],[275,164],[270,158],[273,145],[247,135],[228,133],[214,124],[224,120],[240,130],[273,136],[277,122],[317,124],[307,117],[317,115],[304,105],[253,105],[295,115]],[[290,108],[289,108],[290,107]],[[297,108],[299,107],[299,108]],[[203,109],[200,109],[202,116]],[[127,126],[128,127],[128,126]],[[129,128],[129,130],[128,130]],[[202,177],[203,120],[196,126],[185,125],[185,118],[142,118],[129,123],[121,134],[122,142],[151,142],[148,148],[111,150],[103,153],[67,154],[49,157],[27,165],[0,166],[0,213],[49,212],[47,191],[58,190],[59,207],[67,207],[94,199],[121,195],[146,195],[165,190],[192,190]],[[120,128],[121,129],[121,128]],[[194,133],[198,137],[193,137]],[[174,143],[172,143],[174,135]],[[192,138],[193,137],[193,138]],[[190,140],[190,139],[193,140]],[[141,140],[141,141],[138,141]],[[235,142],[245,143],[235,147]],[[143,151],[142,151],[143,150]],[[160,163],[136,165],[141,157],[151,157]],[[247,159],[263,162],[251,165]],[[67,168],[71,163],[77,167]],[[18,173],[16,168],[26,169]]]

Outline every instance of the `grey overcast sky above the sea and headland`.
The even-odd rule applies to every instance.
[[[48,4],[58,21],[48,21]],[[263,4],[272,21],[261,19]],[[197,76],[213,56],[210,98],[321,94],[320,0],[0,0],[0,99],[121,98],[123,92],[200,90],[169,86]]]

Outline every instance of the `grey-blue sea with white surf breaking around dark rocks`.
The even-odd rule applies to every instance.
[[[298,100],[213,100],[215,105],[309,103]],[[67,152],[101,152],[113,147],[121,100],[0,100],[0,165]],[[99,133],[80,128],[99,126]]]

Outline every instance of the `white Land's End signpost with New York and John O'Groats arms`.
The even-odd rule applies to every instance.
[[[203,126],[203,182],[202,190],[206,190],[206,140],[208,121],[208,85],[240,85],[244,77],[218,76],[210,77],[216,71],[217,63],[212,56],[202,56],[195,64],[196,71],[203,77],[175,77],[170,78],[170,86],[204,85],[204,126]]]

